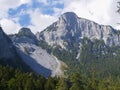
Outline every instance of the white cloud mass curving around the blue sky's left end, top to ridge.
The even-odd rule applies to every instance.
[[[0,24],[7,34],[16,33],[20,28],[18,18],[10,18],[8,10],[16,9],[22,4],[30,4],[31,0],[0,0]]]

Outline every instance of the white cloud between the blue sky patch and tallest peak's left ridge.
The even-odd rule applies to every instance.
[[[42,31],[57,20],[57,18],[55,18],[54,16],[42,14],[39,9],[36,9],[35,11],[30,11],[29,13],[32,23],[32,25],[30,25],[29,27],[34,33],[37,31]]]

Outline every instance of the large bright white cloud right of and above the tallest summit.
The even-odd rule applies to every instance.
[[[63,12],[73,11],[79,17],[93,20],[99,24],[112,25],[120,21],[115,12],[118,0],[64,0]],[[69,4],[68,4],[69,2]]]

